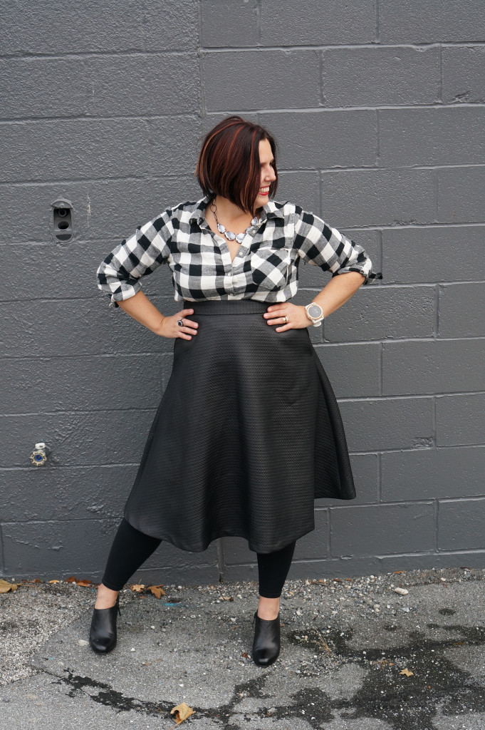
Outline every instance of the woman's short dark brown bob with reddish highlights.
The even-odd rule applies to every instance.
[[[268,199],[276,193],[276,140],[267,129],[237,115],[220,121],[203,138],[195,177],[204,195],[215,193],[255,215],[255,200],[261,185],[260,140],[268,139],[273,153],[276,179],[269,186]]]

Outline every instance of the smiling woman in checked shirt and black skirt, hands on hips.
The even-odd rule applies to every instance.
[[[116,645],[119,591],[165,539],[206,550],[222,535],[257,553],[255,664],[279,656],[279,597],[314,499],[354,499],[341,415],[309,326],[369,279],[365,250],[276,193],[276,142],[230,116],[203,139],[204,196],[136,229],[98,267],[98,288],[161,337],[174,361],[98,587],[90,645]],[[300,260],[333,273],[306,306],[292,304]],[[162,315],[140,279],[172,272],[182,309]],[[335,274],[344,274],[338,275]],[[184,519],[180,520],[180,515]]]

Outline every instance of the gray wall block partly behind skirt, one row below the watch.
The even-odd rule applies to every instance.
[[[315,351],[337,397],[380,395],[381,345],[317,345]]]

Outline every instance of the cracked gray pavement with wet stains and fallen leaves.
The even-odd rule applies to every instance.
[[[87,643],[93,588],[20,583],[0,596],[0,727],[168,729],[186,702],[195,714],[180,725],[198,730],[484,730],[484,577],[287,580],[267,668],[251,658],[256,583],[166,586],[161,599],[125,589],[106,656]]]

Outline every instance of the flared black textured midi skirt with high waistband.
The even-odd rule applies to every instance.
[[[217,537],[271,553],[314,530],[314,499],[354,499],[341,414],[308,328],[252,299],[184,301],[174,360],[124,517],[190,552]]]

